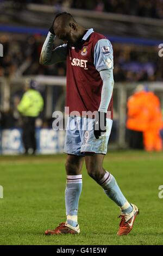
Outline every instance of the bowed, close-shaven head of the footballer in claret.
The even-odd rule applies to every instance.
[[[58,13],[54,20],[53,29],[55,34],[70,45],[77,43],[83,27],[79,26],[70,13]]]

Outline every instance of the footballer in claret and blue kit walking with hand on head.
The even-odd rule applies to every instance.
[[[53,49],[55,37],[64,44]],[[82,192],[82,166],[121,210],[118,235],[127,235],[139,214],[128,202],[114,176],[103,168],[113,118],[113,50],[110,41],[93,29],[80,26],[69,13],[55,16],[43,44],[40,64],[67,64],[68,122],[66,159],[66,221],[46,235],[79,234],[78,204]],[[91,113],[93,113],[91,115]],[[82,129],[81,129],[82,127]]]

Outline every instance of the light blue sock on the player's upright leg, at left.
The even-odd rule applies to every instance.
[[[82,192],[82,175],[67,175],[65,203],[67,223],[76,227],[78,224],[78,204]]]

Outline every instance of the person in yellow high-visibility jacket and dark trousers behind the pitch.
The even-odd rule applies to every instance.
[[[23,134],[22,141],[26,154],[34,154],[36,150],[35,139],[35,119],[43,110],[43,98],[36,90],[37,83],[34,80],[28,80],[25,86],[25,93],[20,103],[17,105],[18,111],[22,115]]]

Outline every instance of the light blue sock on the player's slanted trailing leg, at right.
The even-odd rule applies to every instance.
[[[129,214],[133,211],[133,207],[123,196],[114,176],[106,171],[104,177],[98,183],[103,187],[105,194],[120,206],[122,214]]]

